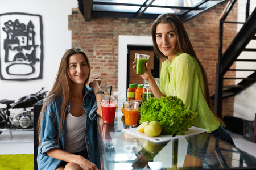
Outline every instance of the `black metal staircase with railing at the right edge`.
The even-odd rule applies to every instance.
[[[248,0],[248,2],[250,2]],[[256,33],[256,8],[249,16],[249,3],[246,6],[246,22],[243,23],[243,27],[234,37],[233,41],[226,49],[225,53],[222,54],[222,37],[223,37],[223,23],[234,23],[238,24],[239,22],[226,22],[225,19],[229,14],[229,11],[232,9],[235,0],[230,1],[229,6],[220,20],[220,42],[219,42],[219,59],[216,66],[216,93],[211,96],[214,105],[214,111],[217,116],[222,118],[222,99],[230,96],[235,96],[246,88],[250,87],[256,82],[256,68],[255,69],[230,69],[230,66],[234,62],[256,62],[255,59],[238,59],[241,52],[249,51],[253,52],[253,55],[256,56],[256,43],[255,48],[249,49],[246,48],[246,45],[250,41],[255,41]],[[241,24],[241,23],[240,23]],[[253,71],[253,74],[247,77],[224,77],[227,71]],[[224,79],[242,79],[242,81],[233,86],[223,86]]]

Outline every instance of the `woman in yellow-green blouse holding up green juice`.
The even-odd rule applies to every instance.
[[[177,96],[194,113],[194,126],[208,129],[210,134],[234,145],[234,142],[216,116],[210,100],[207,74],[196,56],[181,20],[171,13],[158,16],[151,27],[156,55],[166,59],[162,63],[160,87],[155,83],[148,63],[141,75],[158,98]]]

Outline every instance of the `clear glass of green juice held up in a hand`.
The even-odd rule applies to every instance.
[[[149,55],[135,53],[135,74],[144,74]]]

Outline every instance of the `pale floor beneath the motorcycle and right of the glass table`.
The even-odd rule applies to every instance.
[[[256,143],[246,141],[242,135],[229,133],[238,148],[256,157]],[[12,139],[10,132],[3,131],[0,134],[0,154],[34,154],[33,140],[33,131],[13,131]]]

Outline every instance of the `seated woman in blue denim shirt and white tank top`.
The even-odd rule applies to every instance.
[[[102,116],[101,80],[90,77],[90,63],[80,48],[61,59],[55,83],[38,121],[39,169],[98,169],[94,151],[94,120]],[[95,127],[96,128],[96,127]]]

